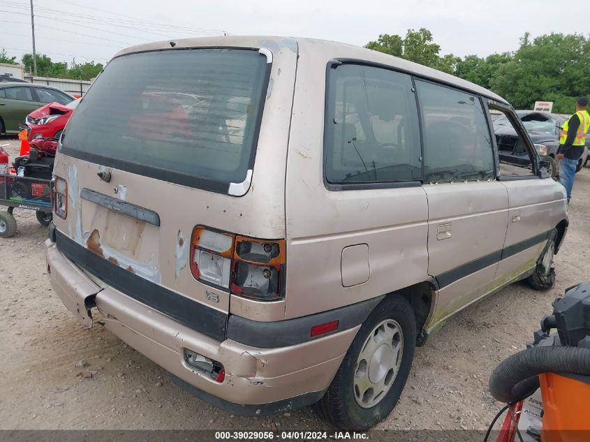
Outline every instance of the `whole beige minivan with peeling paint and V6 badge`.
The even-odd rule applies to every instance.
[[[526,165],[499,161],[506,142]],[[501,97],[310,39],[119,52],[54,179],[47,268],[80,322],[231,413],[316,404],[343,429],[392,411],[452,314],[521,279],[550,288],[568,226]]]

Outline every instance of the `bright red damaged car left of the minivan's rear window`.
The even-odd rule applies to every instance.
[[[27,124],[21,126],[27,129],[27,139],[59,138],[78,103],[80,98],[66,105],[54,101],[31,112]]]

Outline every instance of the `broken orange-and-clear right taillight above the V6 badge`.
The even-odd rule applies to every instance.
[[[191,237],[193,277],[236,295],[284,297],[284,240],[256,240],[197,226]]]

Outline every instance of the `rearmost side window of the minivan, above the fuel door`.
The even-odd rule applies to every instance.
[[[411,77],[344,64],[328,71],[327,82],[326,181],[346,187],[422,179]]]

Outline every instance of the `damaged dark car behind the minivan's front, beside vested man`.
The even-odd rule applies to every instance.
[[[563,124],[568,121],[567,117],[548,112],[533,110],[517,110],[517,116],[529,133],[529,137],[535,143],[535,148],[541,159],[550,164],[550,173],[553,177],[559,177],[559,159],[557,149],[559,148],[559,133]],[[512,128],[508,117],[502,116],[494,119],[494,131],[498,141],[500,159],[510,159],[523,165],[529,164],[526,152],[516,147],[518,137]],[[578,161],[577,172],[579,172],[588,161],[588,149]]]

